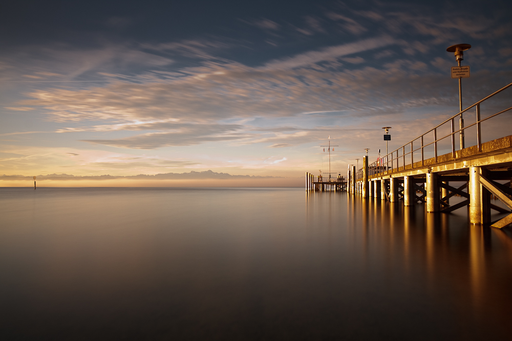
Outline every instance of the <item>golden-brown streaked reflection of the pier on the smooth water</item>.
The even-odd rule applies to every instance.
[[[417,289],[411,283],[416,283],[428,292],[443,292],[445,301],[433,305],[450,302],[456,310],[471,310],[485,319],[493,316],[492,323],[497,325],[508,323],[510,301],[508,294],[506,299],[501,296],[512,280],[509,230],[461,229],[466,225],[464,215],[428,213],[422,205],[407,207],[333,192],[308,192],[306,205],[306,217],[312,223],[317,215],[335,216],[342,211],[344,221],[339,231],[332,232],[333,238],[343,234],[347,254],[363,253],[350,254],[362,272],[371,274],[377,268],[386,272],[389,283],[380,286],[406,290],[403,297],[407,297]],[[432,297],[436,300],[434,293]]]

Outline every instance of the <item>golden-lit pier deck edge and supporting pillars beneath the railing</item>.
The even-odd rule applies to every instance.
[[[349,177],[354,173],[355,169],[349,171]],[[481,150],[472,146],[455,151],[455,156],[453,153],[439,155],[437,162],[433,157],[375,175],[369,174],[365,156],[362,176],[355,181],[349,178],[348,191],[391,202],[402,200],[405,206],[425,202],[428,212],[449,213],[469,206],[471,223],[503,228],[512,223],[512,214],[492,222],[490,210],[510,212],[511,179],[512,135],[483,143]],[[498,180],[508,182],[501,184]],[[450,186],[454,182],[462,185],[457,188]],[[464,192],[466,188],[467,192]],[[454,195],[465,200],[450,205],[450,198]],[[491,195],[509,209],[490,203]]]

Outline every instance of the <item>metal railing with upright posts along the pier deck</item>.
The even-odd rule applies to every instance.
[[[482,128],[481,128],[481,123],[482,122],[485,122],[493,117],[496,117],[500,114],[502,114],[503,112],[506,112],[508,110],[511,110],[512,107],[509,107],[505,110],[501,110],[497,113],[494,113],[493,115],[490,115],[484,119],[481,119],[480,118],[480,104],[484,101],[486,101],[487,99],[489,98],[492,98],[493,96],[501,93],[503,90],[505,90],[506,88],[512,86],[512,83],[502,87],[501,89],[499,89],[498,91],[496,91],[495,93],[493,94],[490,94],[489,96],[481,99],[480,101],[476,102],[475,104],[471,105],[471,106],[468,106],[467,108],[465,108],[464,110],[456,113],[454,116],[452,116],[451,118],[445,120],[444,122],[438,124],[437,126],[435,126],[434,128],[430,129],[429,131],[426,131],[425,133],[421,134],[419,137],[415,138],[414,140],[404,144],[403,146],[395,149],[394,151],[392,151],[391,153],[387,154],[386,156],[382,157],[380,159],[380,161],[377,161],[377,162],[374,162],[372,164],[370,164],[368,166],[368,176],[369,177],[374,177],[374,176],[381,176],[381,175],[387,175],[387,174],[392,174],[392,173],[395,173],[395,172],[399,172],[399,171],[402,171],[402,170],[405,170],[406,169],[406,166],[409,166],[411,165],[411,169],[414,168],[414,152],[420,152],[421,154],[421,160],[418,160],[417,162],[420,162],[421,161],[421,164],[419,165],[420,167],[424,167],[425,166],[425,148],[426,147],[429,147],[431,145],[434,146],[434,163],[437,163],[438,162],[438,144],[439,144],[439,141],[442,141],[446,138],[450,138],[451,139],[451,144],[452,144],[452,156],[453,158],[456,158],[457,155],[456,155],[456,147],[455,147],[455,134],[461,132],[461,131],[464,131],[468,128],[471,128],[473,126],[476,126],[476,141],[477,141],[477,144],[476,146],[478,147],[478,151],[482,151]],[[471,108],[476,108],[476,122],[468,125],[468,126],[465,126],[465,127],[462,127],[461,129],[458,129],[458,130],[455,130],[455,119],[457,117],[459,117],[462,113],[470,110]],[[445,125],[446,123],[450,124],[450,129],[451,129],[451,132],[449,134],[446,134],[444,135],[443,137],[441,138],[438,138],[437,137],[437,133],[438,133],[438,130],[441,126]],[[507,124],[510,124],[510,122],[507,122]],[[433,132],[433,135],[434,135],[434,139],[432,142],[430,143],[426,143],[425,144],[425,140],[426,140],[426,135],[429,134],[429,133],[432,133]],[[428,140],[427,140],[428,141]],[[418,148],[414,148],[414,146],[417,146],[419,143],[419,147]],[[406,149],[407,149],[407,152],[406,152]],[[406,159],[408,159],[406,161]],[[409,163],[409,160],[410,160],[410,163]],[[427,159],[428,160],[428,159]],[[400,169],[401,167],[401,169]],[[362,175],[363,175],[363,170],[362,168],[359,169],[357,171],[357,174],[356,174],[356,180],[359,180],[359,179],[362,179]]]

